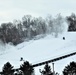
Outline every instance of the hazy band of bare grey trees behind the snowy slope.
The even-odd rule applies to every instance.
[[[53,34],[55,37],[65,29],[65,22],[68,31],[76,31],[76,15],[63,18],[58,14],[55,18],[49,15],[46,19],[25,15],[22,20],[14,20],[0,25],[0,40],[4,43],[11,42],[17,45],[25,40],[35,38],[37,35]]]

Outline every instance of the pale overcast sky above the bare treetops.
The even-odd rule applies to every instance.
[[[0,0],[0,23],[21,19],[24,15],[46,17],[76,13],[76,0]]]

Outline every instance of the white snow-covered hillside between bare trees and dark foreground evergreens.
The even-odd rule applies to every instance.
[[[65,37],[65,40],[62,39],[63,36]],[[20,61],[21,57],[23,57],[25,61],[27,60],[30,63],[35,64],[75,52],[76,32],[67,32],[58,38],[47,35],[45,38],[23,42],[15,47],[10,45],[6,45],[5,47],[6,48],[3,48],[3,51],[0,50],[0,70],[8,61],[15,68],[19,68],[22,63]],[[61,75],[64,67],[71,61],[76,61],[76,55],[54,62],[55,71],[59,72]],[[52,63],[50,63],[50,65],[52,67]],[[39,69],[43,69],[43,66],[35,68],[36,75],[41,75]]]

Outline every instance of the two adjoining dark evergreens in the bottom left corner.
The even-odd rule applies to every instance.
[[[34,68],[28,61],[20,65],[18,69],[14,69],[14,66],[7,62],[4,64],[0,75],[34,75]]]

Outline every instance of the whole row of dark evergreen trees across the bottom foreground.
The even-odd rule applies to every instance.
[[[59,75],[58,72],[52,72],[51,66],[46,63],[44,68],[39,69],[41,75]],[[69,65],[65,66],[63,69],[63,75],[76,75],[76,62],[72,61]],[[35,75],[35,70],[28,61],[24,61],[20,65],[20,68],[14,69],[14,66],[7,62],[2,68],[0,75]]]

